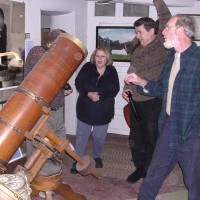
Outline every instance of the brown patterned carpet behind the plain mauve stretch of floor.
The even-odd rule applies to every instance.
[[[68,135],[67,139],[74,145],[75,136]],[[85,154],[92,156],[91,138],[88,142]],[[127,176],[135,170],[133,162],[131,161],[128,136],[109,133],[106,138],[102,159],[104,167],[98,170],[103,177],[126,180]],[[69,156],[64,160],[64,164],[67,167],[71,167],[73,162],[74,160]],[[182,172],[178,165],[165,180],[165,184],[184,185]]]

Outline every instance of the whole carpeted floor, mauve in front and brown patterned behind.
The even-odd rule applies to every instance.
[[[67,136],[67,139],[74,144],[75,136]],[[92,139],[88,143],[86,154],[92,155]],[[85,195],[88,200],[131,200],[137,197],[142,180],[135,184],[126,182],[127,176],[134,170],[128,147],[128,137],[108,134],[102,158],[104,167],[98,169],[102,178],[97,180],[92,175],[70,174],[69,170],[74,160],[67,155],[63,162],[63,183],[69,185],[73,191]],[[176,166],[165,180],[160,193],[183,189],[185,186],[182,173],[179,166]],[[32,199],[39,200],[41,198],[34,197]],[[54,195],[53,199],[61,200],[62,197]]]

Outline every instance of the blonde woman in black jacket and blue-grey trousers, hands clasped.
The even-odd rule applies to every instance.
[[[119,79],[112,65],[110,51],[97,48],[75,79],[79,92],[77,100],[77,133],[75,150],[83,156],[90,135],[93,138],[93,158],[97,168],[102,168],[101,154],[107,136],[108,125],[114,117],[115,97],[119,92]],[[77,173],[76,163],[70,170]]]

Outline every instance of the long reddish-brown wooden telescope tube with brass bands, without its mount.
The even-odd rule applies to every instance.
[[[61,34],[0,111],[0,168],[6,165],[87,55],[77,38]]]

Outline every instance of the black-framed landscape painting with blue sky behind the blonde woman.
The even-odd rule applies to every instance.
[[[134,30],[133,26],[97,26],[96,47],[110,49],[113,61],[130,62]]]

